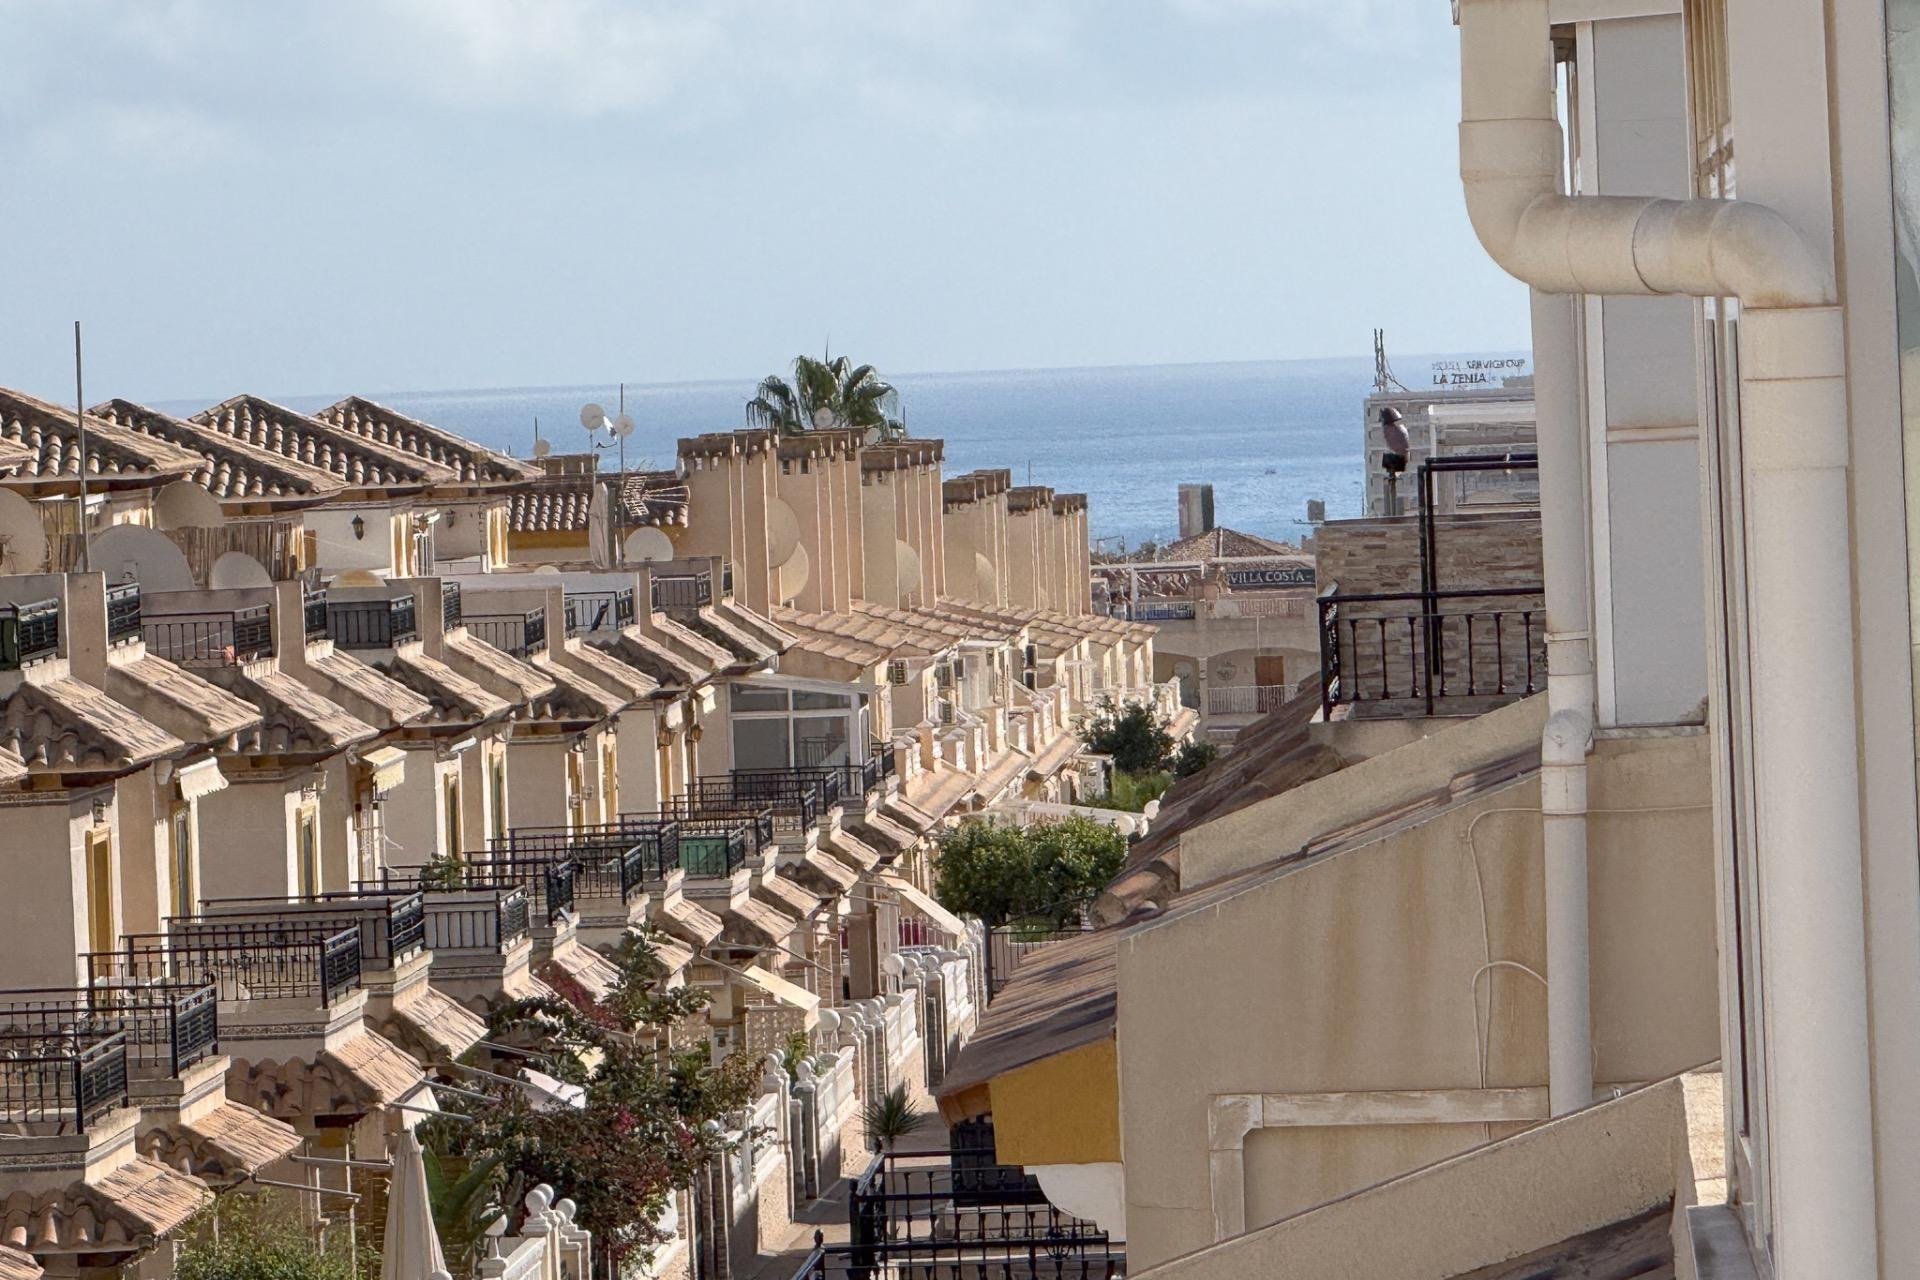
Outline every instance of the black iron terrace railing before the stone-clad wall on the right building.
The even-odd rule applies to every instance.
[[[1321,714],[1400,704],[1432,716],[1463,699],[1523,699],[1546,677],[1540,587],[1319,597]],[[1392,710],[1392,708],[1380,708]]]

